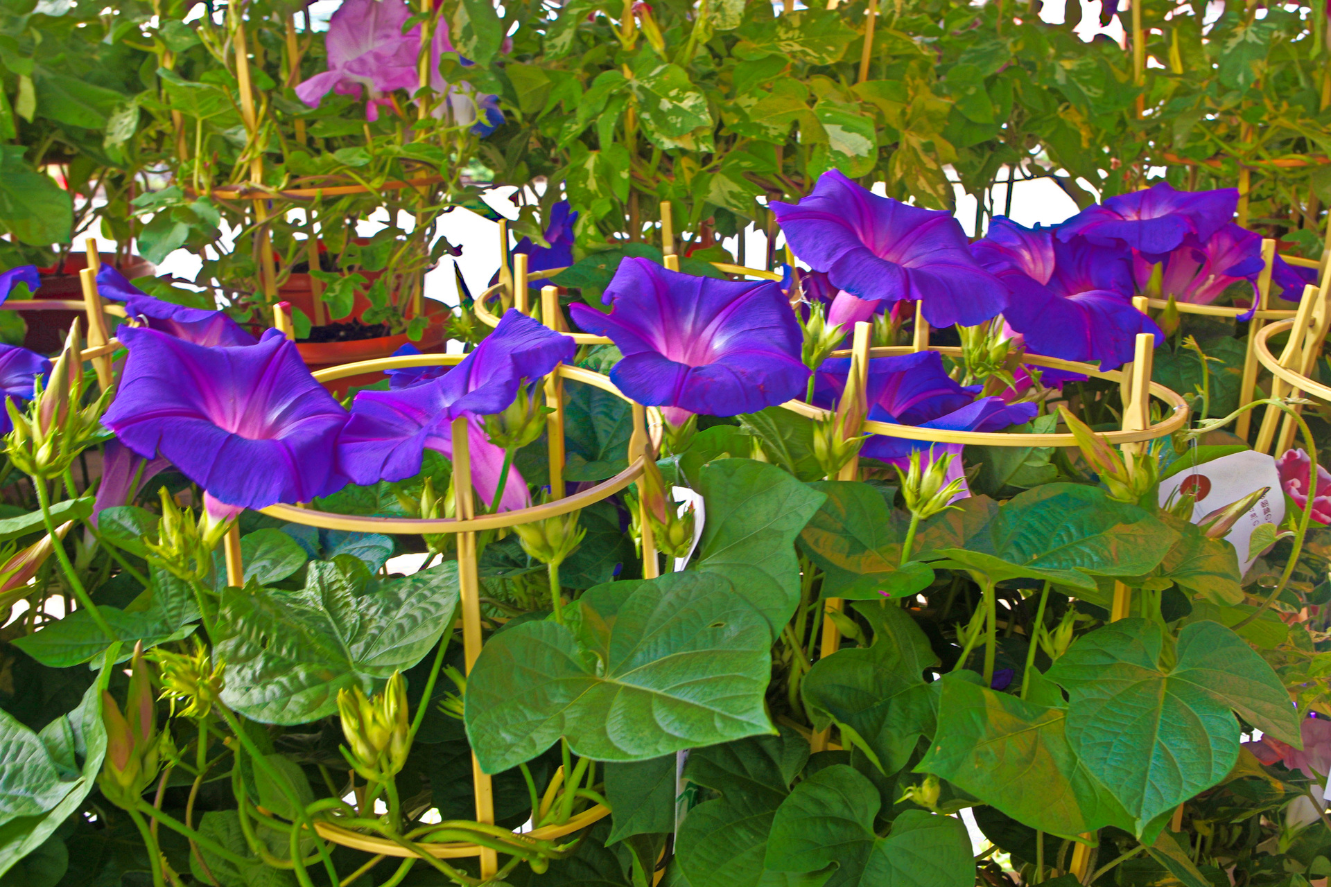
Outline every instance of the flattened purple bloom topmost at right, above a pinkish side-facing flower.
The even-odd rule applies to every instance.
[[[1239,191],[1177,191],[1169,182],[1110,197],[1058,226],[1058,239],[1085,237],[1099,246],[1126,245],[1159,262],[1185,243],[1201,246],[1234,218]]]

